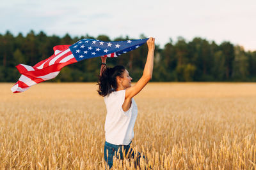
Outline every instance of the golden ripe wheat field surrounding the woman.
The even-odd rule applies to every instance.
[[[107,168],[96,83],[12,85],[0,83],[1,169]],[[148,83],[134,99],[141,169],[256,169],[256,83]]]

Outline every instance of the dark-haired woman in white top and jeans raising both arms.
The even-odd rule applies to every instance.
[[[107,108],[104,159],[109,168],[113,166],[113,156],[117,159],[124,159],[124,157],[136,159],[135,165],[140,164],[140,153],[135,157],[130,147],[138,113],[132,97],[136,96],[152,78],[155,39],[149,38],[147,45],[148,55],[143,75],[134,86],[131,86],[132,78],[124,66],[106,67],[106,57],[101,57],[98,92],[100,96],[104,96]],[[143,158],[146,159],[144,156]]]

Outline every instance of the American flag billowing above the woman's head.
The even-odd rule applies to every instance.
[[[17,65],[21,76],[11,88],[13,93],[24,92],[32,85],[55,78],[62,67],[93,57],[118,57],[122,53],[143,45],[146,39],[126,41],[99,41],[98,39],[81,39],[73,45],[54,46],[54,54],[48,59],[38,62],[35,66]]]

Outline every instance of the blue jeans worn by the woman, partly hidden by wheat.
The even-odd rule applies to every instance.
[[[132,142],[131,142],[132,143]],[[134,159],[134,150],[131,148],[131,143],[129,145],[114,145],[105,141],[104,146],[104,159],[107,162],[109,169],[113,166],[113,157],[115,156],[117,159],[132,158]],[[122,152],[124,150],[124,153]],[[108,155],[107,155],[108,152]],[[141,153],[138,152],[135,160],[135,167],[140,165]],[[143,155],[143,159],[147,161],[147,158]]]

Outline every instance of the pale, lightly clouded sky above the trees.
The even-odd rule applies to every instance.
[[[170,38],[200,37],[256,50],[255,9],[255,0],[11,0],[0,4],[0,34],[33,30],[48,36],[104,34],[111,39],[139,39],[144,34],[156,38],[161,48]]]

